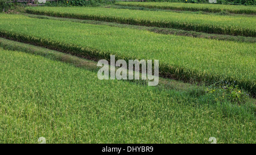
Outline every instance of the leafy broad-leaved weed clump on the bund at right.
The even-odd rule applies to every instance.
[[[232,83],[214,83],[208,86],[205,92],[212,95],[216,102],[224,102],[228,99],[233,103],[242,104],[249,100],[249,94],[240,89],[239,86],[236,85],[236,81]]]

